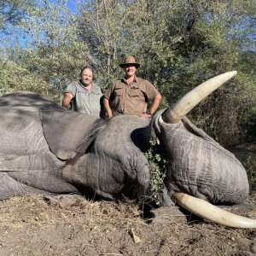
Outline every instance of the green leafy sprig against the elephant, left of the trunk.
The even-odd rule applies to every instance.
[[[150,148],[148,148],[145,156],[149,163],[150,183],[154,192],[160,192],[164,186],[164,179],[166,177],[167,160],[160,148],[159,139],[150,141]]]

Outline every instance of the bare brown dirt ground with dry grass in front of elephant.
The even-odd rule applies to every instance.
[[[0,255],[256,254],[256,229],[231,229],[200,219],[188,223],[192,216],[177,207],[150,209],[79,195],[0,201]],[[240,213],[256,218],[253,209]]]

